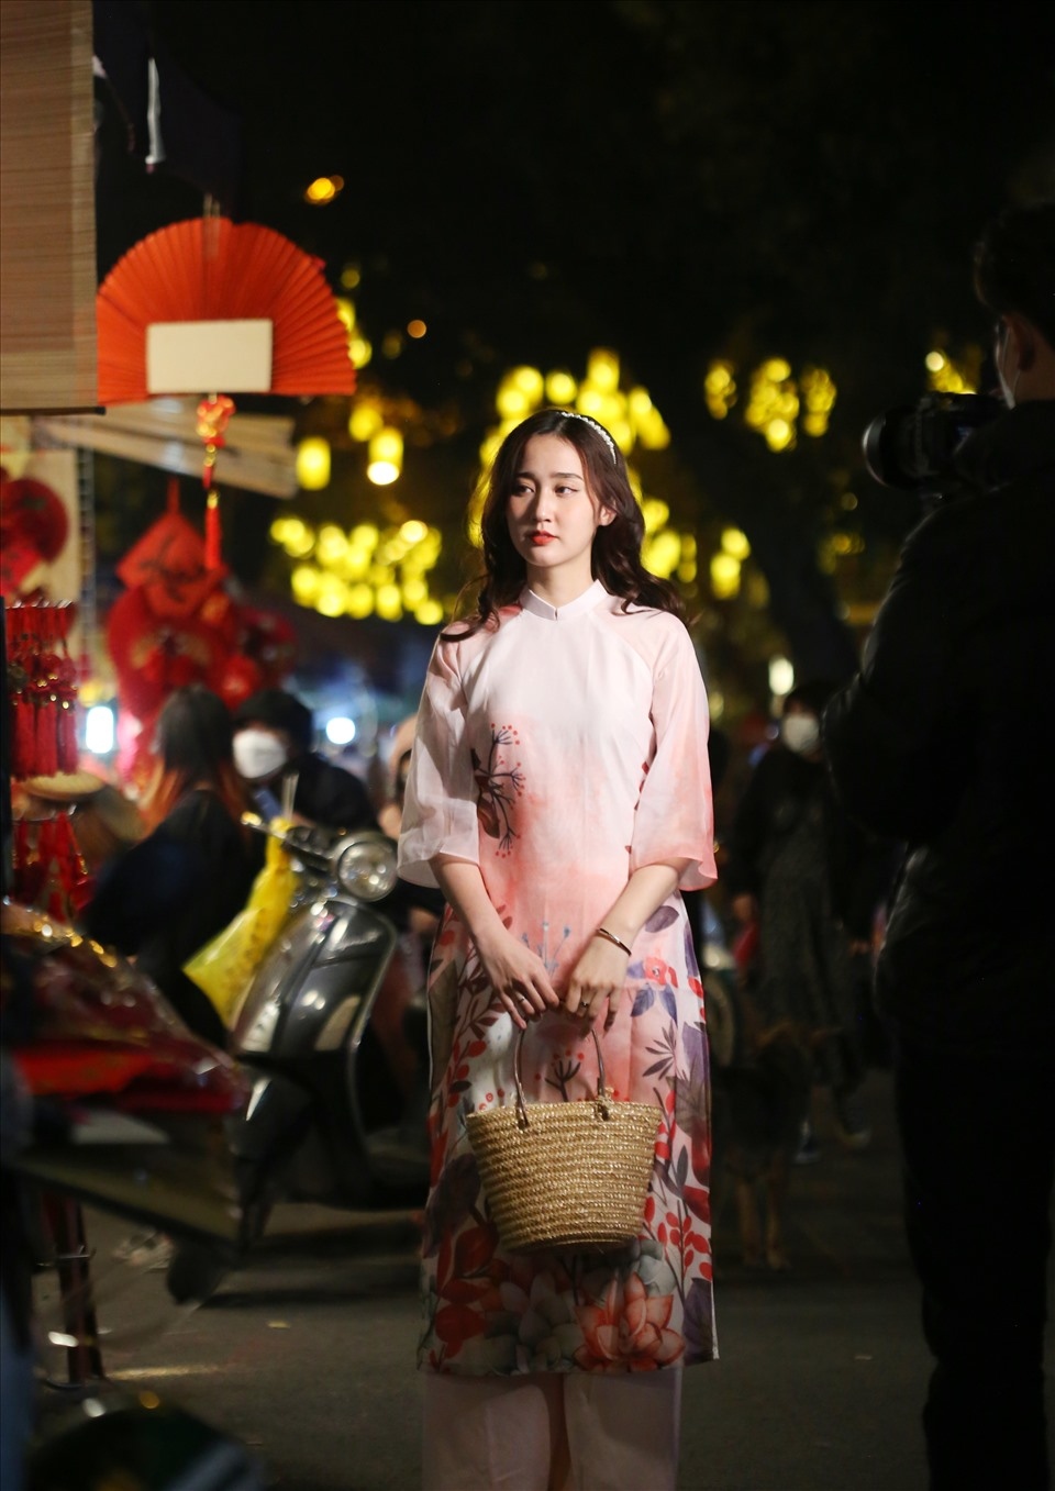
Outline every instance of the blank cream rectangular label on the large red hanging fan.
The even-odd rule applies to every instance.
[[[148,394],[267,394],[272,321],[158,321],[146,328]]]

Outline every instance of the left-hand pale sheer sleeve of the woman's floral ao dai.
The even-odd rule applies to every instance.
[[[442,638],[433,649],[418,708],[400,825],[400,877],[416,886],[436,886],[430,866],[436,854],[479,863],[476,786],[466,740],[458,644]]]

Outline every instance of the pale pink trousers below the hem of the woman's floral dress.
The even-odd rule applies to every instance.
[[[682,1373],[425,1376],[424,1491],[674,1491]]]

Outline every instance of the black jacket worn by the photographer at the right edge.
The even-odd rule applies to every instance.
[[[909,535],[824,743],[907,854],[879,959],[904,1038],[1055,1062],[1055,401],[961,446]]]

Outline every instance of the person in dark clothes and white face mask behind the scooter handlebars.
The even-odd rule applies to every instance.
[[[360,778],[312,750],[315,723],[306,704],[285,689],[261,689],[234,711],[234,763],[273,816],[294,784],[292,811],[334,829],[376,828]]]

